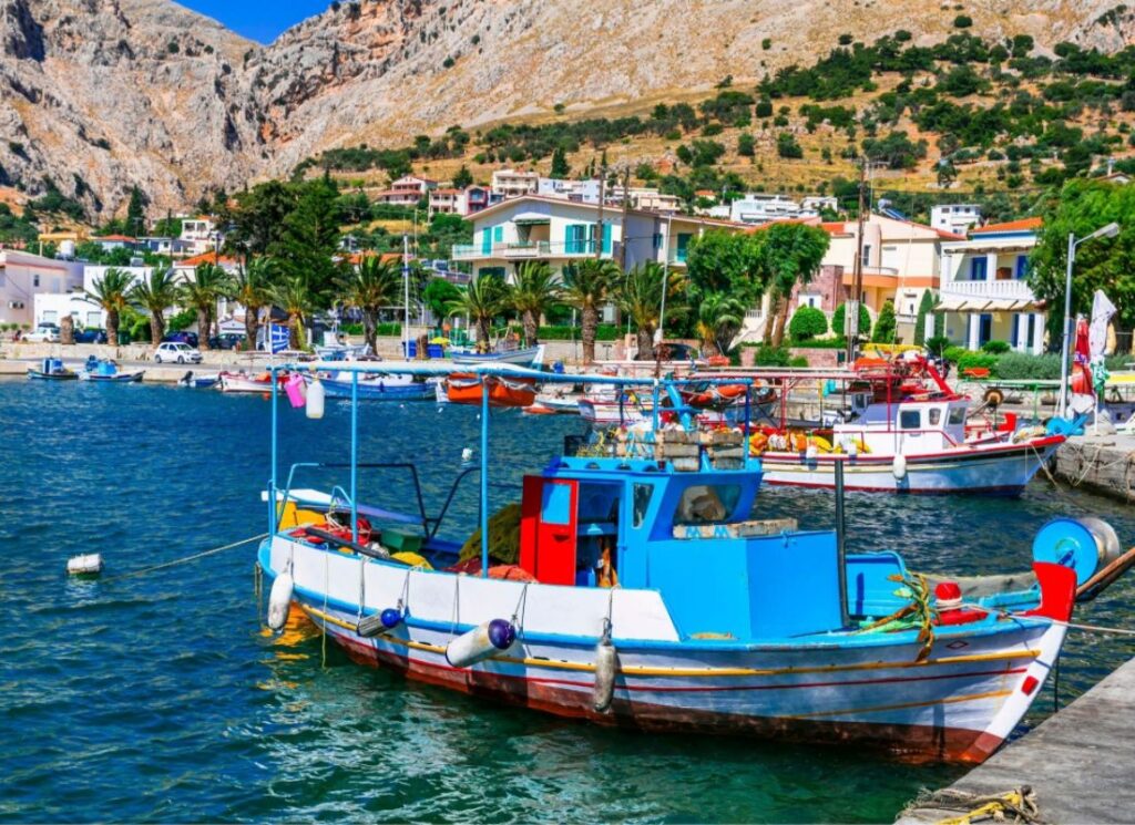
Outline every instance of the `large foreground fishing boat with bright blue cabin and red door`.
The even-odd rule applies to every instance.
[[[698,431],[682,381],[563,380],[637,384],[679,420],[569,439],[491,518],[487,391],[479,465],[455,471],[436,513],[413,466],[360,460],[355,405],[348,465],[305,456],[279,474],[272,405],[258,556],[272,581],[269,627],[281,629],[295,605],[359,662],[604,725],[982,762],[1040,695],[1077,595],[1095,595],[1135,558],[1105,525],[1071,519],[1037,534],[1025,582],[924,576],[889,548],[849,554],[842,490],[835,530],[763,516],[762,463],[745,431]],[[336,468],[333,490],[300,487],[304,473]],[[406,474],[414,504],[360,502],[363,471]],[[470,476],[480,517],[454,529],[449,502]]]

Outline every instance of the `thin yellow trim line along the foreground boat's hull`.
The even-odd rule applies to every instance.
[[[326,621],[344,630],[355,632],[356,628],[351,622],[337,619],[334,615],[323,613],[317,607],[301,605],[309,615]],[[401,647],[409,647],[414,650],[427,650],[438,655],[445,655],[445,647],[431,645],[426,641],[413,641],[411,639],[400,639],[395,636],[382,636],[382,641]],[[1016,650],[1004,653],[975,653],[968,656],[945,656],[942,658],[927,658],[923,662],[864,662],[861,664],[831,664],[816,667],[647,667],[644,665],[621,665],[619,672],[630,677],[672,677],[672,678],[705,678],[705,677],[779,677],[794,675],[798,673],[840,673],[846,671],[872,671],[872,670],[906,670],[910,667],[930,667],[933,665],[965,664],[968,662],[1009,662],[1019,658],[1034,660],[1041,655],[1040,650]],[[513,656],[494,656],[494,662],[506,662],[508,664],[523,664],[529,667],[546,667],[548,670],[568,670],[594,673],[595,665],[586,662],[564,662],[549,658],[515,658]]]

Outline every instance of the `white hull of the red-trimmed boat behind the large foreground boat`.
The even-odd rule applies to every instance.
[[[999,493],[1018,495],[1063,443],[1062,436],[1017,444],[991,443],[906,456],[906,471],[897,477],[894,456],[860,453],[844,460],[847,490],[876,493]],[[794,452],[760,456],[764,483],[794,487],[835,486],[835,462],[844,457]]]

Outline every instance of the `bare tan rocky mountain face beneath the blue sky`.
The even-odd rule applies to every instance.
[[[1031,34],[1117,50],[1112,0],[363,0],[268,46],[169,0],[0,0],[0,186],[45,180],[110,214],[178,209],[333,146],[568,116],[810,63],[840,34]]]

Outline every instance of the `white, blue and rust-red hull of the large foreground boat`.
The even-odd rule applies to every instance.
[[[281,537],[261,545],[260,563],[269,577],[291,567],[296,603],[352,658],[410,679],[604,725],[855,742],[914,760],[977,763],[992,754],[1039,692],[1067,629],[1041,619],[1002,622],[994,632],[940,628],[919,660],[913,633],[854,646],[823,637],[764,646],[680,639],[656,592],[360,564]],[[351,595],[361,589],[363,611]],[[405,622],[386,636],[356,632],[362,612],[394,606],[403,595]],[[518,641],[471,666],[449,664],[455,638],[490,616],[518,622],[521,598]],[[613,616],[619,664],[613,705],[600,713],[594,703],[604,615]],[[620,638],[620,628],[631,637]]]

